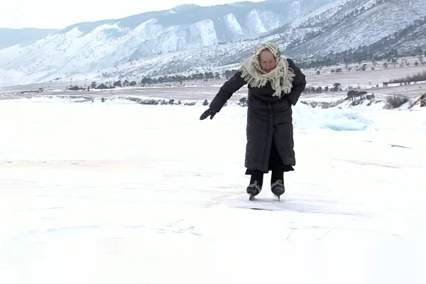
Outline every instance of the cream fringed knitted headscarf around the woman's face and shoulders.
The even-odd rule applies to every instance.
[[[267,73],[262,70],[259,55],[263,50],[270,50],[276,60],[276,65],[271,72]],[[263,87],[268,81],[271,82],[271,87],[275,91],[272,95],[280,97],[281,92],[290,93],[293,87],[293,77],[295,73],[288,67],[287,58],[281,56],[280,50],[274,43],[262,43],[256,48],[250,58],[244,61],[240,67],[241,77],[250,84],[251,87]]]

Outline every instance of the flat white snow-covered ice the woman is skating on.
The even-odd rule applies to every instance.
[[[426,283],[424,109],[297,104],[250,202],[246,107],[205,108],[1,100],[0,283]]]

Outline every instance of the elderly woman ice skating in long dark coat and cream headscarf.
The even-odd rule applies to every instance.
[[[219,112],[228,99],[248,84],[246,175],[251,175],[247,193],[251,199],[262,190],[263,174],[271,174],[271,191],[280,199],[285,192],[284,172],[293,169],[292,105],[305,89],[305,75],[293,60],[280,55],[278,46],[263,43],[219,89],[200,119]]]

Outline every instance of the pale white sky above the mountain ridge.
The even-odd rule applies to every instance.
[[[65,28],[75,23],[124,18],[182,4],[212,6],[241,1],[244,0],[0,0],[0,28]]]

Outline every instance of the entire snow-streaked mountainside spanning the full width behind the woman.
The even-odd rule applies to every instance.
[[[354,53],[419,53],[426,48],[425,5],[426,0],[266,0],[79,23],[31,45],[0,50],[0,85],[224,70],[263,41],[278,43],[300,64]]]

